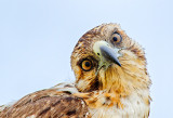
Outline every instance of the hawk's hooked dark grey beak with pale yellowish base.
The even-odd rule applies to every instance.
[[[98,69],[103,66],[106,68],[112,63],[121,67],[121,64],[118,60],[120,54],[118,53],[119,49],[112,49],[106,41],[97,41],[93,45],[94,53],[99,57]]]

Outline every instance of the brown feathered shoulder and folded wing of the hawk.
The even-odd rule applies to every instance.
[[[74,84],[61,83],[51,89],[30,93],[0,113],[2,118],[83,118],[88,106],[80,97]]]

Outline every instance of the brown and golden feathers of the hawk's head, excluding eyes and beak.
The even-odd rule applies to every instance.
[[[110,38],[114,31],[121,35],[122,42],[120,44],[114,45],[111,42]],[[93,52],[93,44],[101,40],[108,42],[112,48],[121,48],[120,53],[122,56],[119,57],[119,61],[122,67],[111,64],[107,70],[103,67],[96,74],[99,58]],[[78,65],[81,60],[86,57],[94,58],[94,61],[92,60],[94,67],[90,71],[83,71]],[[104,24],[84,34],[72,52],[71,67],[77,78],[77,88],[80,91],[92,91],[91,87],[95,84],[95,81],[98,86],[95,88],[98,90],[106,89],[109,91],[114,88],[114,91],[129,91],[127,94],[130,93],[130,87],[138,88],[139,82],[144,82],[141,88],[150,86],[143,49],[137,42],[129,38],[117,24]]]

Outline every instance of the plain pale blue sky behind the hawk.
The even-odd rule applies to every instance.
[[[0,104],[74,81],[75,44],[103,23],[120,24],[145,48],[152,80],[150,118],[171,118],[172,0],[0,0]]]

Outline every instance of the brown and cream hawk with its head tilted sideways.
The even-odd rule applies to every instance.
[[[3,105],[0,118],[148,118],[151,80],[145,52],[118,24],[85,32],[70,58],[75,83]]]

